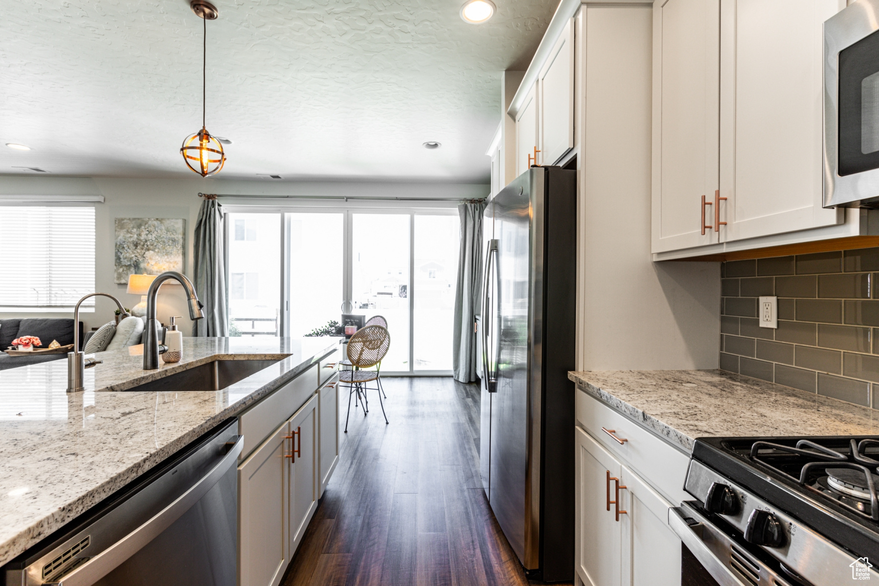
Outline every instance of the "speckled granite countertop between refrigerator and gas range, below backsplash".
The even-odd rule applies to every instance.
[[[724,371],[568,373],[686,452],[695,438],[879,435],[879,410]]]

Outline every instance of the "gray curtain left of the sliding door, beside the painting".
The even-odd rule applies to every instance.
[[[222,206],[215,195],[204,195],[195,221],[195,293],[205,305],[204,319],[195,322],[195,336],[229,336],[226,267],[223,255]]]

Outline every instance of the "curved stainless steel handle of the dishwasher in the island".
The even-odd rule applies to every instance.
[[[90,586],[98,582],[105,575],[116,569],[123,561],[126,561],[134,553],[139,552],[142,547],[149,544],[160,533],[171,526],[174,521],[178,520],[187,510],[198,503],[207,491],[214,488],[222,478],[222,475],[234,467],[238,461],[238,454],[244,447],[244,437],[238,436],[235,445],[229,452],[211,468],[207,474],[202,476],[199,481],[193,484],[185,493],[178,496],[171,504],[156,515],[149,519],[146,523],[136,528],[133,532],[128,533],[125,537],[108,547],[103,552],[98,553],[91,560],[86,561],[82,566],[76,568],[68,575],[63,575],[57,582],[45,582],[44,586]]]

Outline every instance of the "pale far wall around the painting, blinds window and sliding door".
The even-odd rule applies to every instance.
[[[483,184],[439,183],[354,183],[354,182],[269,182],[233,181],[193,176],[187,179],[106,178],[106,177],[21,177],[0,176],[0,195],[103,195],[105,203],[96,204],[95,222],[95,288],[117,297],[125,307],[133,307],[140,296],[129,295],[127,286],[113,283],[115,218],[182,218],[185,220],[185,273],[193,273],[193,229],[201,199],[199,192],[246,195],[369,195],[376,197],[444,197],[482,198],[489,186]],[[265,203],[287,206],[314,205],[313,202],[291,199],[238,199],[236,204]],[[344,203],[344,202],[342,202]],[[384,203],[384,202],[381,202]],[[326,205],[326,204],[324,204]],[[338,205],[334,202],[331,205]],[[371,204],[372,205],[372,204]],[[410,206],[409,202],[389,204]],[[113,319],[115,304],[98,298],[95,313],[80,314],[88,331]],[[171,315],[184,315],[179,322],[185,336],[192,331],[183,288],[165,285],[156,307],[158,318],[168,323]],[[43,317],[47,314],[0,313],[0,319],[11,317]],[[52,317],[73,317],[73,314],[51,314]]]

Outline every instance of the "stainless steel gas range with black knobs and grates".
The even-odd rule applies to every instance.
[[[879,581],[879,437],[699,438],[669,517],[723,586]]]

